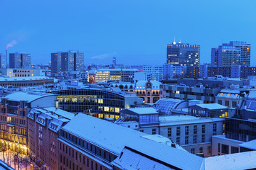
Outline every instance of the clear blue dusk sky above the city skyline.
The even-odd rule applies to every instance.
[[[166,45],[211,47],[240,40],[252,45],[256,65],[255,0],[0,0],[0,53],[29,52],[48,63],[50,53],[79,50],[85,64],[164,64]]]

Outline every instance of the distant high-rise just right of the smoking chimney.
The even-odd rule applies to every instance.
[[[31,54],[24,54],[18,52],[10,53],[9,64],[11,69],[31,67]]]

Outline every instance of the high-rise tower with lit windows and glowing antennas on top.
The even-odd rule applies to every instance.
[[[174,66],[199,66],[200,45],[172,42],[167,45],[167,64]]]

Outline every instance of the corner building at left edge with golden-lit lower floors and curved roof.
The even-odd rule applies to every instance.
[[[2,142],[11,150],[21,147],[21,153],[27,153],[28,121],[31,108],[54,107],[54,94],[17,92],[1,98],[1,132]]]

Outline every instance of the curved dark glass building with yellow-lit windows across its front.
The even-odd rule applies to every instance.
[[[135,94],[116,92],[111,89],[71,89],[52,91],[57,96],[57,107],[71,113],[87,113],[97,118],[119,118],[124,108],[142,103]]]

